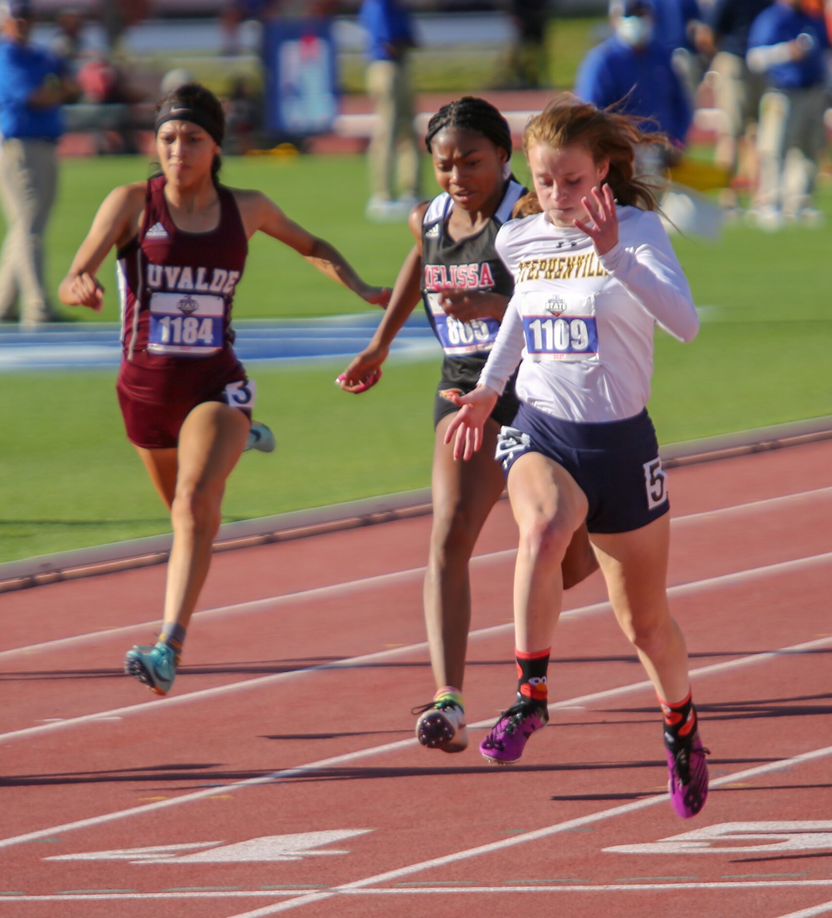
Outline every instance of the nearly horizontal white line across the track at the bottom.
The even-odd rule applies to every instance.
[[[714,880],[709,883],[599,883],[597,886],[586,886],[580,884],[568,884],[560,886],[552,884],[551,886],[534,886],[533,884],[524,884],[523,886],[422,886],[418,889],[366,889],[366,890],[343,890],[343,895],[354,896],[422,896],[422,895],[442,895],[459,892],[633,892],[638,890],[757,890],[757,889],[777,889],[778,887],[825,887],[832,886],[832,879],[770,879],[770,880],[750,880],[750,881],[731,881]],[[322,890],[314,890],[316,892]],[[298,890],[210,890],[193,892],[55,892],[47,895],[6,895],[0,898],[0,901],[14,902],[94,902],[96,900],[105,901],[128,901],[131,899],[268,899],[276,896],[296,896]],[[780,918],[810,918],[811,915],[822,914],[823,911],[832,909],[832,902],[826,902],[825,905],[818,905],[815,909],[804,909],[803,912],[793,912],[788,915],[781,915]],[[240,918],[240,916],[236,916]]]

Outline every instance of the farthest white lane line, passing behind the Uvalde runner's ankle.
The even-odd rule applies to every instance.
[[[748,511],[754,512],[758,509],[773,509],[780,505],[790,504],[793,501],[812,500],[817,498],[832,497],[832,487],[815,487],[809,491],[800,491],[795,494],[786,494],[778,498],[762,498],[760,500],[751,500],[745,504],[735,504],[731,507],[722,507],[714,510],[703,510],[697,513],[688,513],[685,516],[674,517],[670,523],[672,526],[679,527],[688,525],[694,521],[701,521],[705,518],[719,519],[725,514],[742,514]],[[475,554],[471,559],[473,564],[490,563],[502,558],[513,557],[517,553],[514,548],[507,548],[500,552],[490,552],[489,554]],[[239,614],[240,612],[256,612],[264,609],[271,609],[275,606],[286,605],[293,602],[307,602],[316,599],[326,599],[330,596],[340,594],[349,595],[356,589],[373,588],[377,586],[394,583],[399,578],[420,577],[424,574],[425,568],[410,567],[403,571],[394,571],[388,574],[377,574],[373,577],[360,577],[356,580],[347,580],[343,583],[331,584],[327,587],[314,587],[301,589],[294,593],[283,593],[277,596],[266,597],[265,599],[251,599],[248,602],[233,603],[229,606],[217,606],[214,609],[204,609],[195,612],[193,619],[202,618],[208,615],[222,615],[226,613]],[[21,647],[12,647],[8,650],[0,651],[0,660],[7,656],[17,654],[31,654],[41,650],[55,650],[59,647],[73,646],[85,641],[92,641],[102,637],[109,637],[113,634],[129,634],[131,632],[146,631],[149,628],[158,627],[159,620],[140,621],[136,624],[122,625],[117,628],[105,628],[101,631],[88,632],[84,634],[75,634],[72,637],[55,638],[52,641],[42,641],[40,644],[26,644]]]

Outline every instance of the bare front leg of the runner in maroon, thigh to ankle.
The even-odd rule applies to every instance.
[[[187,627],[208,575],[225,482],[242,455],[250,421],[239,409],[203,402],[179,432],[171,509],[174,545],[168,563],[164,621]]]

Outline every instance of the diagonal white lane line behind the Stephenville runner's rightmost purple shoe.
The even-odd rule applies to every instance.
[[[761,775],[766,775],[772,771],[778,771],[783,767],[804,765],[806,762],[812,762],[817,759],[825,758],[826,756],[832,756],[832,746],[825,746],[822,749],[813,749],[811,752],[802,753],[799,756],[781,759],[778,762],[770,762],[766,765],[760,765],[754,768],[747,768],[745,771],[737,771],[733,775],[725,775],[724,778],[716,778],[710,782],[710,787],[714,789],[722,787],[724,784],[732,784],[739,780],[745,780],[746,778],[759,778]],[[432,857],[418,864],[410,864],[408,867],[387,870],[373,877],[356,879],[352,883],[343,883],[340,886],[332,887],[332,890],[307,893],[298,896],[296,899],[283,901],[272,906],[265,906],[253,912],[232,915],[230,918],[264,918],[266,915],[273,915],[278,912],[288,912],[289,909],[310,905],[313,902],[319,902],[325,899],[331,899],[332,896],[349,893],[352,890],[363,890],[368,886],[388,883],[401,877],[410,877],[412,874],[421,873],[423,870],[445,867],[448,864],[456,864],[459,861],[467,860],[471,857],[489,855],[496,851],[504,851],[506,848],[514,847],[515,845],[525,845],[528,842],[536,842],[541,838],[548,838],[551,835],[568,832],[570,829],[577,829],[580,826],[589,825],[590,823],[601,823],[608,819],[615,819],[618,816],[627,816],[632,812],[645,810],[647,807],[656,806],[657,803],[662,803],[667,800],[669,800],[669,794],[658,794],[655,797],[647,797],[644,800],[634,800],[632,803],[624,803],[622,806],[613,807],[609,810],[602,810],[601,812],[593,812],[586,816],[579,816],[576,819],[567,820],[565,823],[554,823],[542,829],[536,829],[534,832],[511,835],[508,838],[501,839],[499,842],[490,842],[488,845],[478,845],[477,847],[468,848],[465,851],[457,851],[452,855]],[[801,883],[803,881],[795,880],[794,882]],[[684,886],[684,884],[672,884],[673,889],[679,889],[681,886]]]

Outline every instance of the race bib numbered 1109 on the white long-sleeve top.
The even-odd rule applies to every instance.
[[[527,294],[523,331],[526,351],[535,362],[598,357],[598,325],[591,297],[569,304],[563,297]]]

